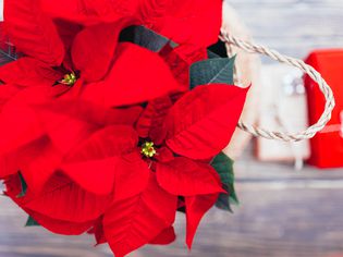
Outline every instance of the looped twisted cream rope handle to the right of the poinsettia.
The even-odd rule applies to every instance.
[[[308,139],[314,137],[318,132],[320,132],[326,124],[330,121],[331,119],[331,113],[334,108],[334,97],[333,93],[328,85],[328,83],[321,77],[319,72],[317,72],[313,66],[306,64],[304,61],[294,59],[287,56],[283,56],[280,52],[275,50],[271,50],[267,47],[250,44],[244,40],[241,40],[232,35],[230,35],[228,32],[224,29],[221,30],[220,39],[224,41],[228,45],[234,45],[247,52],[250,53],[261,53],[265,56],[270,57],[271,59],[279,61],[281,63],[286,63],[293,66],[298,68],[306,74],[308,74],[315,82],[318,83],[318,86],[322,94],[326,97],[326,107],[323,110],[323,113],[321,114],[320,119],[318,122],[311,126],[309,126],[307,130],[296,133],[296,134],[287,134],[287,133],[282,133],[282,132],[270,132],[268,130],[259,128],[259,127],[254,127],[252,125],[244,124],[242,121],[238,122],[238,127],[243,131],[246,131],[255,136],[261,136],[267,139],[278,139],[278,140],[283,140],[283,142],[298,142],[303,139]]]

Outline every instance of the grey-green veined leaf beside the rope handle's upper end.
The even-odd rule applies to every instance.
[[[216,54],[216,53],[213,53]],[[211,53],[211,57],[215,57]],[[235,57],[212,58],[196,62],[191,66],[191,89],[199,85],[229,84],[232,85]]]

